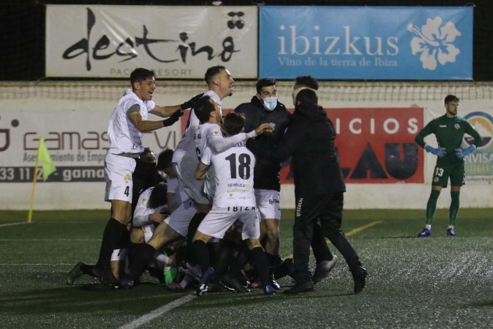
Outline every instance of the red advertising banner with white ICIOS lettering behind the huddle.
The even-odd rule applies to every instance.
[[[346,183],[424,183],[424,151],[414,142],[423,128],[423,108],[325,111],[336,129]],[[181,118],[183,129],[187,114]],[[288,165],[281,169],[281,183],[293,183]]]

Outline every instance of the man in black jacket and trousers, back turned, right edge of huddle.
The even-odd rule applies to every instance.
[[[248,141],[254,153],[274,154],[280,161],[292,156],[296,213],[293,226],[293,258],[296,284],[285,293],[313,290],[308,262],[314,222],[319,219],[325,236],[341,252],[354,280],[354,292],[361,292],[367,274],[359,257],[341,230],[344,184],[337,150],[335,130],[318,98],[310,88],[293,92],[296,107],[293,119],[275,148]]]

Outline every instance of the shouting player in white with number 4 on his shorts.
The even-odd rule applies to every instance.
[[[174,124],[183,109],[191,107],[194,99],[181,105],[161,107],[152,101],[156,83],[154,72],[143,68],[130,74],[131,87],[118,100],[108,124],[109,147],[105,157],[105,201],[111,202],[111,217],[103,233],[99,259],[94,274],[102,283],[118,284],[110,270],[110,257],[117,248],[131,219],[132,173],[136,158],[144,150],[142,133]],[[148,113],[168,119],[150,121]]]

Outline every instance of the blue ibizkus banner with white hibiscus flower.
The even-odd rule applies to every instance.
[[[262,6],[259,75],[472,79],[472,7]]]

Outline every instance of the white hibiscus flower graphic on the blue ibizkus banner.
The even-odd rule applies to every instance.
[[[441,26],[442,22],[442,18],[437,16],[434,19],[426,19],[426,24],[421,30],[413,24],[407,26],[409,32],[418,36],[411,40],[411,49],[413,55],[421,52],[420,60],[423,69],[435,70],[437,60],[441,65],[454,63],[460,53],[460,50],[452,44],[456,37],[461,35],[460,32],[454,23],[447,22]]]

